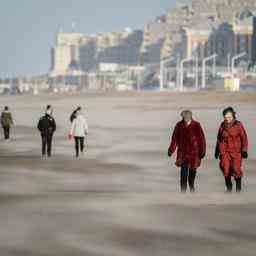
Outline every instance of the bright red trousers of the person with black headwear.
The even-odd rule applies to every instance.
[[[237,152],[225,152],[220,157],[220,168],[225,177],[234,176],[241,178],[242,172],[242,156]]]

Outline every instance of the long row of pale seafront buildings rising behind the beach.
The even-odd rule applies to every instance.
[[[182,58],[202,61],[215,53],[221,56],[217,64],[227,65],[240,52],[252,55],[251,10],[255,8],[256,0],[191,0],[146,24],[144,31],[128,28],[94,36],[59,33],[52,74],[65,75],[74,61],[88,73],[97,72],[100,63],[159,65],[175,56],[178,65]]]

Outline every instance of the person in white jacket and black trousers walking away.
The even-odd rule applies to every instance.
[[[77,111],[76,118],[73,120],[70,129],[70,137],[74,137],[76,157],[79,157],[79,149],[81,153],[84,151],[84,140],[88,134],[88,124],[81,110]]]

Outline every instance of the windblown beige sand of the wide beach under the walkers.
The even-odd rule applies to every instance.
[[[15,127],[0,140],[0,255],[255,255],[256,93],[107,93],[1,97]],[[51,159],[40,156],[37,120],[54,106]],[[73,108],[86,108],[87,152],[67,139]],[[221,111],[234,106],[250,138],[244,192],[224,193],[214,159]],[[179,113],[191,108],[207,137],[197,192],[179,193],[168,159]]]

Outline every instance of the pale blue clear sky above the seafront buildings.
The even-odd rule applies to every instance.
[[[143,28],[176,0],[4,0],[0,8],[0,78],[49,71],[56,33],[95,34]]]

